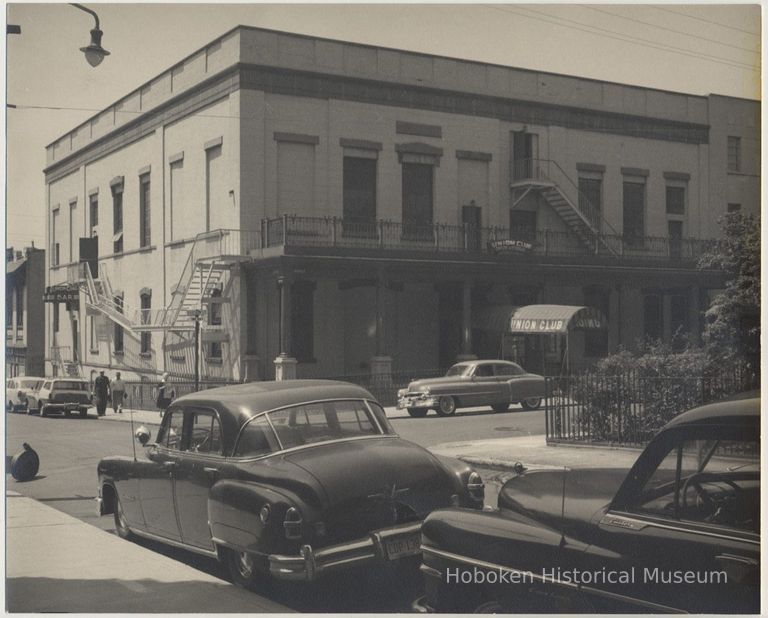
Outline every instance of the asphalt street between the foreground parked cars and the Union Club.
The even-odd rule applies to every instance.
[[[106,455],[131,455],[134,442],[130,424],[99,422],[92,414],[85,419],[7,414],[6,419],[6,454],[12,456],[20,452],[22,443],[28,442],[40,457],[40,472],[33,481],[17,483],[6,474],[9,489],[114,533],[112,517],[96,514],[96,465]],[[430,414],[423,419],[406,417],[391,421],[403,438],[424,446],[544,432],[542,411],[521,412],[514,408],[502,414],[490,410],[459,411],[452,418]],[[215,560],[161,543],[137,542],[227,579],[225,570]],[[264,595],[303,612],[404,612],[421,593],[421,576],[416,567],[414,564],[399,569],[355,572],[353,576],[327,579],[310,586],[281,585],[265,590]]]

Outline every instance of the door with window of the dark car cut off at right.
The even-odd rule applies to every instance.
[[[590,568],[628,571],[632,580],[600,582],[585,592],[598,610],[756,613],[756,436],[711,426],[674,434],[635,496],[622,497],[623,504],[600,517],[596,543],[586,554]]]

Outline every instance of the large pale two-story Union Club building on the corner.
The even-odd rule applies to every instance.
[[[696,340],[758,136],[756,101],[238,27],[48,147],[48,283],[81,298],[48,345],[191,376],[198,316],[207,379],[550,371],[562,338],[506,332],[532,304],[603,314],[575,365]]]

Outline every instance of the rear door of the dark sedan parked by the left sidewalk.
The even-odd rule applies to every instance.
[[[184,543],[213,550],[208,526],[208,495],[219,478],[222,453],[221,422],[215,410],[184,409],[185,450],[175,470],[176,514]]]

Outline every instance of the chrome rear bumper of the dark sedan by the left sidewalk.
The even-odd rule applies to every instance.
[[[298,556],[269,556],[269,572],[277,578],[292,581],[313,581],[323,573],[366,562],[388,560],[386,541],[421,532],[421,522],[377,530],[367,538],[323,547],[317,551],[304,545]]]

